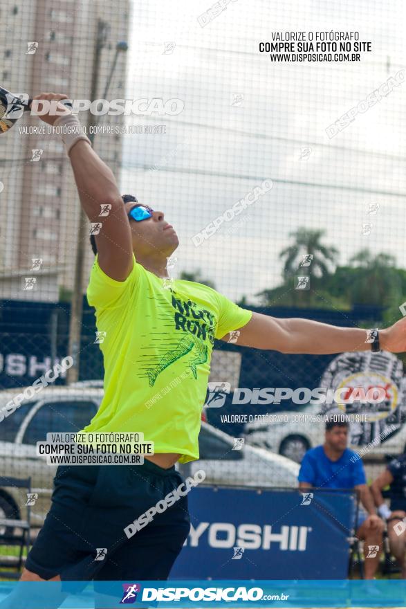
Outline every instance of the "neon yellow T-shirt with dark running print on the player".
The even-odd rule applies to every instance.
[[[252,311],[203,284],[171,284],[133,263],[124,282],[109,278],[97,255],[91,270],[87,298],[102,333],[104,397],[82,431],[143,433],[154,453],[179,453],[186,463],[199,459],[214,337],[246,325]]]

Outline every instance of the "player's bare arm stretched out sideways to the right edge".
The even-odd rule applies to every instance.
[[[221,340],[227,342],[229,334]],[[406,318],[379,330],[380,349],[392,353],[406,351]],[[333,354],[369,351],[367,330],[338,327],[299,318],[279,319],[252,313],[250,321],[239,329],[237,345],[273,349],[281,353]]]

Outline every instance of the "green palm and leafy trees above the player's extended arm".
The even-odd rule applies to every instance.
[[[353,305],[383,307],[384,320],[394,323],[399,306],[406,301],[406,271],[396,268],[387,253],[373,255],[364,248],[339,266],[338,250],[322,243],[324,231],[299,228],[294,242],[280,253],[284,260],[282,283],[257,296],[264,306],[315,307],[349,310]],[[299,266],[304,254],[313,254],[308,267]],[[298,275],[310,276],[310,290],[295,289]]]

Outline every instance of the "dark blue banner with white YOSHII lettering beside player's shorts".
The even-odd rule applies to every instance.
[[[192,527],[171,579],[347,578],[351,491],[198,487],[189,507]]]

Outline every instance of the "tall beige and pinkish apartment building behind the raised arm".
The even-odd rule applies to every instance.
[[[129,10],[129,0],[119,5],[104,0],[5,0],[0,8],[0,84],[30,96],[55,91],[91,99],[97,69],[96,99],[102,98],[116,44],[128,39]],[[100,53],[95,66],[96,44]],[[126,62],[126,53],[120,52],[108,100],[124,97]],[[89,113],[79,117],[87,124]],[[119,125],[123,119],[99,120]],[[0,298],[52,302],[61,288],[73,289],[80,205],[59,136],[21,133],[23,127],[29,131],[39,125],[45,123],[24,113],[0,138]],[[118,177],[122,135],[98,134],[94,147]],[[35,155],[33,150],[42,152]],[[83,291],[93,260],[87,244],[85,250]],[[33,259],[41,260],[34,270]],[[30,276],[36,281],[26,288]]]

